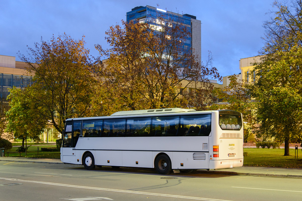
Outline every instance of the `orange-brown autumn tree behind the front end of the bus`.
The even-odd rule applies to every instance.
[[[34,75],[31,87],[36,94],[32,101],[37,108],[46,109],[46,113],[39,112],[43,120],[49,120],[62,133],[67,118],[90,112],[94,77],[84,36],[74,40],[64,33],[53,36],[50,42],[41,38],[41,43],[28,50],[27,56],[19,56],[27,63],[29,74]]]

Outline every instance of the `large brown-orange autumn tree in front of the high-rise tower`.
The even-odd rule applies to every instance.
[[[218,78],[211,59],[200,63],[185,41],[191,37],[188,27],[177,20],[160,16],[145,24],[122,20],[106,32],[111,49],[96,48],[107,56],[101,70],[101,89],[94,105],[102,105],[102,114],[119,110],[170,107],[205,107],[211,101],[213,86],[209,78]],[[185,93],[186,87],[195,88]],[[102,108],[101,108],[102,109]]]

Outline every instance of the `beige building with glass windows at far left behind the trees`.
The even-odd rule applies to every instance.
[[[16,57],[0,55],[0,97],[3,101],[9,94],[9,89],[13,86],[17,88],[24,88],[31,86],[31,75],[25,69],[26,63],[16,61]],[[52,142],[54,138],[54,129],[47,128],[40,135],[43,142]]]

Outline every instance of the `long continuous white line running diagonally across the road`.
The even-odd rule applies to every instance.
[[[48,184],[48,185],[54,185],[54,186],[84,188],[84,189],[89,189],[89,190],[105,190],[105,191],[121,192],[121,193],[133,193],[133,194],[153,195],[153,196],[162,196],[162,197],[175,197],[175,198],[182,198],[182,199],[196,199],[196,200],[205,200],[205,201],[231,201],[231,200],[225,200],[225,199],[180,196],[180,195],[170,195],[170,194],[162,194],[162,193],[147,193],[147,192],[141,192],[141,191],[99,188],[99,187],[89,187],[89,186],[77,186],[77,185],[70,185],[70,184],[59,184],[59,183],[51,183],[51,182],[44,182],[44,181],[30,181],[30,180],[12,179],[12,178],[5,178],[5,177],[0,177],[0,179],[5,179],[5,180],[9,180],[9,181],[31,182],[31,183],[37,183],[37,184]]]

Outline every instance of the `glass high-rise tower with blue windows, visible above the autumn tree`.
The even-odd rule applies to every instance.
[[[160,29],[162,22],[158,19],[160,16],[163,20],[169,23],[171,20],[180,23],[182,26],[187,27],[191,36],[184,41],[183,51],[191,49],[194,55],[201,55],[201,21],[196,20],[196,17],[189,14],[178,14],[163,9],[155,8],[152,6],[138,6],[132,8],[127,12],[127,22],[130,20],[137,20],[140,23],[154,24],[156,28]]]

